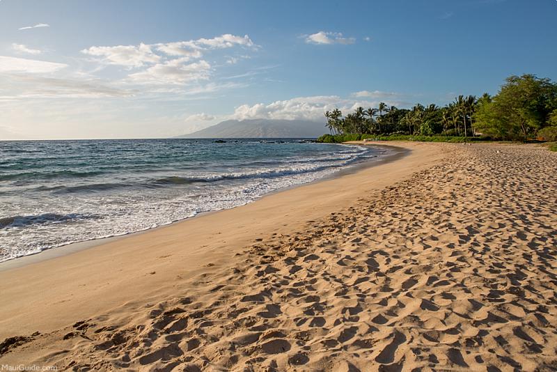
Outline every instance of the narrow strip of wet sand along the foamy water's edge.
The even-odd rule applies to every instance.
[[[390,148],[391,150],[395,151],[395,153],[387,155],[388,158],[383,158],[383,159],[373,158],[372,160],[368,160],[366,162],[359,162],[359,163],[353,164],[352,166],[348,166],[345,169],[340,169],[339,171],[331,173],[331,174],[329,174],[327,176],[324,176],[322,178],[318,178],[317,180],[312,180],[308,183],[300,183],[298,185],[292,185],[292,186],[288,186],[288,187],[281,187],[279,189],[275,189],[271,192],[267,192],[267,194],[263,194],[262,196],[254,199],[253,201],[250,201],[249,203],[246,203],[246,204],[256,203],[257,201],[260,201],[261,199],[266,198],[267,196],[271,196],[273,194],[277,194],[277,193],[280,193],[280,192],[285,192],[285,191],[288,191],[290,189],[295,189],[297,187],[312,185],[314,183],[320,183],[320,182],[327,181],[327,180],[334,180],[335,178],[340,178],[340,177],[346,176],[347,174],[356,173],[357,171],[360,171],[361,169],[367,169],[367,168],[371,168],[373,166],[377,166],[379,164],[394,162],[394,161],[400,159],[400,157],[403,157],[403,156],[405,156],[409,153],[409,150],[407,150],[405,148],[398,147],[398,146],[393,146],[393,145],[370,144],[369,142],[366,142],[366,143],[362,142],[360,144],[354,144],[354,145],[372,146],[372,147],[376,147],[376,148],[386,147],[386,148]],[[27,254],[25,256],[10,258],[7,261],[0,262],[0,272],[7,271],[7,270],[12,270],[12,269],[15,269],[15,268],[22,268],[25,265],[31,265],[33,263],[39,263],[41,261],[50,260],[50,259],[61,257],[61,256],[66,256],[68,254],[73,254],[73,253],[76,253],[78,251],[82,251],[84,249],[90,249],[90,248],[93,248],[93,247],[97,247],[99,245],[104,245],[104,244],[108,244],[108,243],[111,243],[111,242],[116,242],[120,239],[129,238],[129,237],[134,236],[134,235],[141,235],[141,234],[144,234],[144,233],[149,233],[150,231],[156,231],[160,228],[166,228],[168,226],[173,226],[175,224],[180,224],[182,222],[186,222],[186,221],[189,221],[191,219],[195,219],[195,218],[202,217],[202,216],[205,216],[205,215],[211,215],[212,213],[222,212],[223,210],[230,210],[230,209],[234,209],[234,208],[240,208],[242,206],[245,206],[246,204],[243,204],[241,206],[235,206],[233,208],[210,210],[210,211],[207,211],[207,212],[199,212],[196,215],[194,215],[193,217],[186,217],[186,218],[183,218],[183,219],[178,219],[177,221],[173,221],[173,222],[170,222],[168,224],[164,224],[164,225],[156,226],[156,227],[152,227],[152,228],[146,228],[146,229],[141,230],[141,231],[132,231],[130,233],[107,236],[105,238],[94,238],[94,239],[90,239],[90,240],[83,240],[81,242],[72,242],[72,243],[68,243],[68,244],[65,244],[65,245],[58,245],[57,247],[43,249],[42,251],[38,251],[38,252],[35,252],[35,253],[32,253],[32,254]],[[60,250],[60,251],[58,251],[58,250]]]

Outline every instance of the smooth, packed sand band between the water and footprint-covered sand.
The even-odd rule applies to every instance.
[[[379,192],[444,157],[436,146],[400,146],[412,151],[396,162],[4,270],[0,293],[10,302],[0,306],[0,339],[52,331],[95,314],[141,308],[161,293],[170,293],[177,276],[191,278],[207,270],[209,263],[218,267],[258,239],[304,230],[311,221],[355,203],[362,194]]]

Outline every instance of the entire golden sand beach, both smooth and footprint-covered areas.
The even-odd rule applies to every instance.
[[[412,151],[0,272],[0,364],[556,370],[557,153],[397,146]]]

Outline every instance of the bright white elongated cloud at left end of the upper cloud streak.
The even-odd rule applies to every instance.
[[[90,47],[81,53],[100,56],[111,65],[122,65],[128,68],[141,67],[146,63],[157,63],[161,57],[152,52],[151,46],[143,44],[117,45],[115,47]]]

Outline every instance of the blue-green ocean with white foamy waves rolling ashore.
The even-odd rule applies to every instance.
[[[387,153],[295,139],[0,141],[0,262],[242,206]]]

